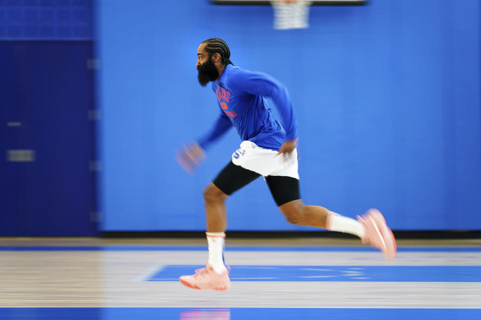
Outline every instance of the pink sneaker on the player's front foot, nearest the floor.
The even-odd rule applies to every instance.
[[[209,262],[204,268],[196,269],[195,274],[180,276],[179,281],[183,285],[197,290],[225,291],[230,287],[229,271],[225,270],[219,274],[214,271]]]

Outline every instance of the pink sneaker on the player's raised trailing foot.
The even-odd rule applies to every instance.
[[[369,209],[362,216],[357,216],[359,222],[364,225],[364,237],[362,243],[369,243],[373,247],[380,248],[387,260],[396,256],[396,239],[391,229],[386,225],[386,220],[378,209]]]

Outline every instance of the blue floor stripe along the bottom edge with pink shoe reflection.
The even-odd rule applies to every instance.
[[[159,319],[481,319],[481,309],[373,308],[0,308],[2,320],[159,320]]]

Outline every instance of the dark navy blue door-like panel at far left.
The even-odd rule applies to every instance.
[[[91,41],[0,41],[0,235],[94,235]],[[12,161],[8,150],[33,150]]]

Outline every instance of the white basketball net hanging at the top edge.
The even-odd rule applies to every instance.
[[[309,5],[306,0],[272,0],[274,28],[279,30],[309,27]]]

